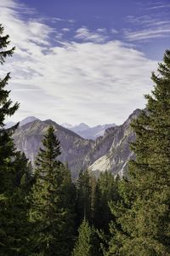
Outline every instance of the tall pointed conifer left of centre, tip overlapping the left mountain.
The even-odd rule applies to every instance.
[[[61,153],[49,126],[36,162],[31,195],[32,255],[69,255],[73,236],[71,174],[56,158]]]

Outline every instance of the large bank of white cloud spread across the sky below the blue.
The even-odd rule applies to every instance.
[[[51,44],[54,28],[22,20],[18,5],[5,3],[0,3],[1,20],[17,49],[2,72],[12,71],[12,96],[20,102],[16,119],[29,110],[59,123],[119,124],[134,108],[144,107],[156,61],[120,41],[105,41],[103,28],[81,27],[80,43]]]

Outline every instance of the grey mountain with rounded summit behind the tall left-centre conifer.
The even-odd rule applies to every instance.
[[[59,160],[68,162],[72,177],[77,177],[77,172],[82,168],[83,158],[88,154],[93,142],[83,139],[73,131],[65,129],[50,119],[45,121],[37,119],[26,125],[19,126],[14,132],[16,148],[23,151],[33,163],[36,160],[39,148],[42,147],[42,137],[48,130],[49,125],[54,126],[55,134],[61,144],[62,154]]]

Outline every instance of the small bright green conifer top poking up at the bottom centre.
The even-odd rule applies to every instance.
[[[100,252],[99,236],[94,227],[90,227],[88,221],[84,219],[78,229],[78,237],[73,256],[99,256]]]

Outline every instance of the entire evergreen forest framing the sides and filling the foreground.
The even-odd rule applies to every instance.
[[[14,50],[1,25],[1,65]],[[131,124],[135,159],[126,177],[80,170],[73,182],[58,160],[53,125],[32,166],[14,146],[19,124],[5,129],[20,107],[10,99],[9,79],[0,79],[0,255],[170,255],[170,50],[152,73],[146,109]]]

